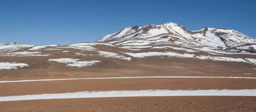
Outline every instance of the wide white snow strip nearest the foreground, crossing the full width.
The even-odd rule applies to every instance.
[[[256,89],[210,89],[210,90],[125,90],[94,91],[59,94],[20,95],[0,97],[0,101],[23,101],[42,99],[70,98],[107,98],[107,97],[152,97],[152,96],[256,96]]]

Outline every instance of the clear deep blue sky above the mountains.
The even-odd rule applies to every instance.
[[[93,42],[128,26],[178,23],[256,38],[256,0],[0,0],[0,43]]]

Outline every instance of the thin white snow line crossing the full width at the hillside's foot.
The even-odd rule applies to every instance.
[[[66,78],[66,79],[10,80],[10,81],[3,80],[3,81],[0,81],[0,83],[32,82],[32,81],[53,81],[53,80],[123,79],[123,78],[245,78],[245,79],[256,79],[256,78],[253,78],[253,77],[148,76],[148,77]]]

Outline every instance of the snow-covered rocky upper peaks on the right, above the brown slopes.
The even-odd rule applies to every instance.
[[[133,46],[172,43],[220,49],[237,49],[241,46],[249,47],[252,44],[256,44],[256,39],[232,29],[203,28],[197,31],[189,31],[177,23],[164,23],[144,27],[127,27],[119,32],[108,34],[96,40],[96,42]]]

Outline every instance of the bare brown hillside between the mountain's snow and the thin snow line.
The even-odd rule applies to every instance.
[[[75,52],[62,54],[61,51],[47,51],[53,54],[49,57],[1,57],[0,62],[18,62],[26,63],[29,66],[12,70],[0,70],[0,78],[19,78],[19,77],[83,77],[99,75],[168,75],[168,74],[240,74],[250,73],[256,75],[256,65],[240,62],[225,62],[198,60],[192,58],[160,58],[146,57],[134,58],[131,61],[116,58],[107,58],[99,56],[77,56]],[[89,53],[91,54],[91,53]],[[255,56],[255,55],[253,55]],[[67,63],[58,63],[49,61],[49,59],[75,58],[81,60],[101,60],[102,63],[96,63],[91,67],[71,67]],[[248,57],[247,57],[248,58]],[[252,57],[254,58],[254,57]],[[173,68],[170,66],[183,67]],[[251,76],[250,75],[250,76]],[[206,76],[206,75],[204,75]],[[248,76],[248,75],[245,75]],[[0,79],[1,80],[1,79]]]

